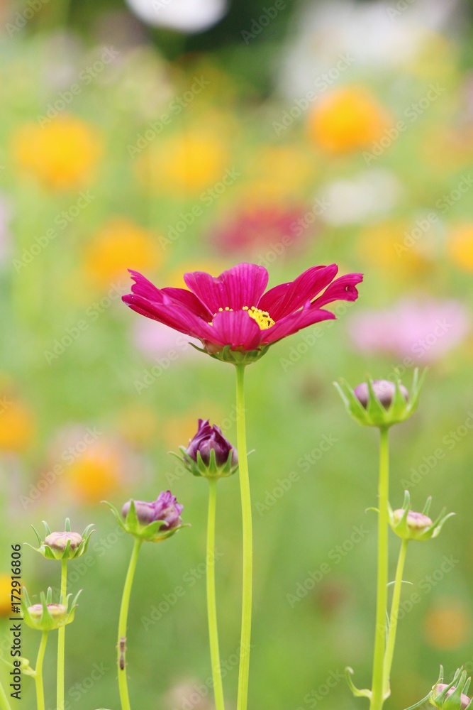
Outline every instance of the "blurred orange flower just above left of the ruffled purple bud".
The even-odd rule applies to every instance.
[[[68,468],[69,491],[82,503],[98,503],[122,487],[123,452],[114,442],[96,442]]]

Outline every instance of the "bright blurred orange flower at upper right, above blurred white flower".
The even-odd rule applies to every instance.
[[[382,138],[391,117],[365,87],[335,89],[308,116],[312,140],[330,153],[349,153]]]

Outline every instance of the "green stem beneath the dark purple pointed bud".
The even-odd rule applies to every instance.
[[[217,607],[215,595],[215,517],[217,500],[217,479],[208,479],[208,520],[207,520],[207,615],[208,638],[212,664],[213,694],[216,710],[224,710],[223,684],[218,649]]]

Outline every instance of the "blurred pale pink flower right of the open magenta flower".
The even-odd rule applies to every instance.
[[[396,354],[428,363],[460,344],[469,326],[469,312],[459,301],[404,299],[385,310],[357,313],[348,331],[362,352]]]

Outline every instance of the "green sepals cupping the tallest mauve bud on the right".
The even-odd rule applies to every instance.
[[[406,421],[416,411],[426,373],[427,368],[424,369],[419,378],[418,368],[414,370],[411,392],[407,401],[404,399],[404,395],[401,392],[401,381],[399,378],[396,378],[394,381],[394,395],[388,408],[382,405],[374,393],[372,378],[367,378],[369,397],[366,408],[360,403],[360,400],[358,400],[355,395],[355,391],[350,387],[347,381],[341,379],[339,382],[334,382],[333,384],[345,403],[347,413],[350,414],[358,424],[363,427],[387,428],[394,424],[399,424],[399,422]]]

